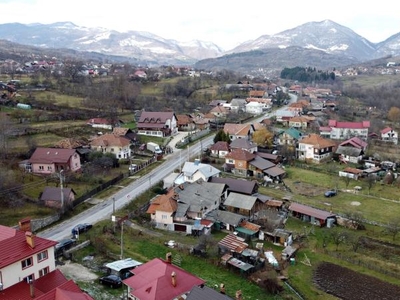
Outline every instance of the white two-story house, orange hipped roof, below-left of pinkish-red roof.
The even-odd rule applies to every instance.
[[[311,160],[321,162],[332,157],[335,143],[324,139],[319,134],[309,134],[299,141],[297,146],[297,157],[299,160]]]

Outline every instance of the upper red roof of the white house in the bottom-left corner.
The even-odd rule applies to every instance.
[[[35,247],[26,242],[25,232],[0,225],[0,269],[57,244],[56,241],[34,236]]]

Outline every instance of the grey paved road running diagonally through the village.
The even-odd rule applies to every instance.
[[[295,101],[293,98],[291,102]],[[251,123],[260,122],[264,118],[271,117],[275,114],[275,112],[270,112],[266,115],[260,116],[255,120],[252,120]],[[166,176],[168,176],[173,170],[178,169],[182,163],[187,161],[190,158],[195,157],[201,152],[201,148],[206,148],[213,143],[214,136],[210,136],[202,140],[202,142],[198,142],[195,145],[187,149],[177,150],[175,149],[174,153],[166,156],[166,161],[151,171],[150,173],[142,176],[138,180],[134,181],[130,185],[121,189],[119,192],[114,194],[108,200],[105,200],[90,209],[83,211],[79,215],[68,219],[54,227],[51,227],[45,231],[42,231],[38,234],[38,236],[47,238],[50,240],[59,241],[64,238],[71,237],[71,229],[80,223],[91,223],[95,224],[101,220],[111,219],[111,215],[113,213],[113,208],[115,205],[115,210],[121,209],[127,203],[129,203],[133,198],[136,198],[138,195],[144,193],[147,189],[153,186],[155,183],[163,180]],[[113,201],[115,200],[115,203]]]

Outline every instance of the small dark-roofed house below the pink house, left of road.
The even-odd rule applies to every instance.
[[[39,196],[39,200],[47,207],[64,208],[72,207],[75,200],[76,193],[73,189],[68,187],[46,186]]]

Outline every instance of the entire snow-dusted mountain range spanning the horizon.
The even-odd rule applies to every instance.
[[[240,65],[263,68],[271,64],[276,68],[289,65],[339,67],[380,57],[400,56],[400,33],[374,44],[330,20],[309,22],[274,35],[263,35],[227,52],[213,42],[181,42],[149,32],[118,32],[106,28],[79,27],[70,22],[0,24],[0,39],[48,49],[101,53],[148,65],[196,63],[196,66],[201,66],[201,62],[206,60],[203,65],[216,64],[217,67],[230,69]],[[247,52],[253,53],[243,54]],[[238,53],[240,57],[235,56]],[[232,65],[232,61],[236,64]],[[268,64],[264,63],[266,61]]]

